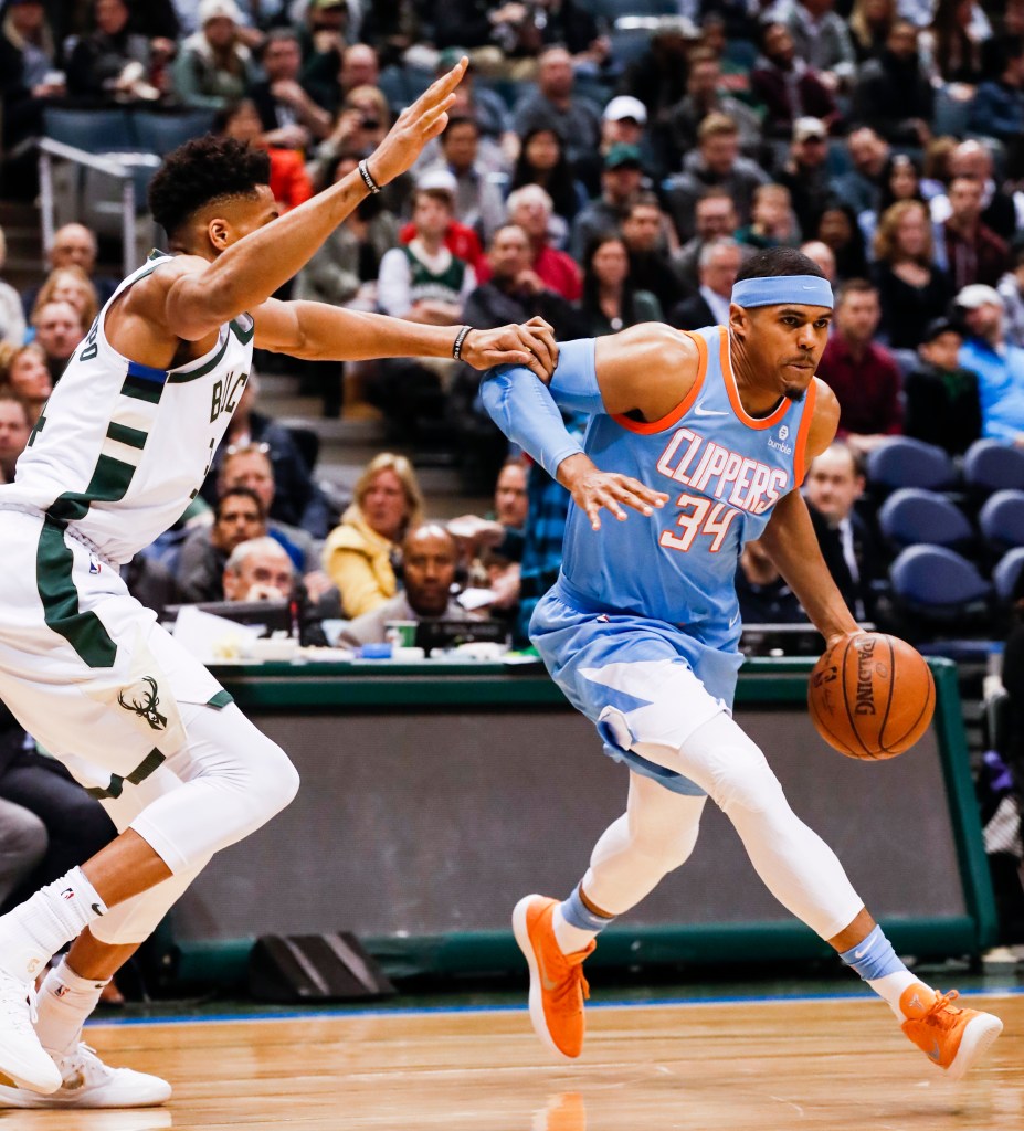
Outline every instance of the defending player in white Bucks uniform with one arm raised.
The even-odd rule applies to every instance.
[[[270,297],[441,132],[465,66],[404,111],[358,172],[279,218],[265,153],[204,138],[171,154],[150,188],[171,253],[156,253],[103,308],[15,482],[0,486],[0,697],[119,830],[0,918],[0,1106],[169,1097],[164,1080],[103,1064],[80,1041],[83,1022],[210,856],[298,788],[284,752],[119,575],[197,493],[252,347],[325,360],[454,355],[477,369],[520,362],[541,378],[553,368],[547,326],[471,331]],[[71,940],[36,1013],[33,982]]]

